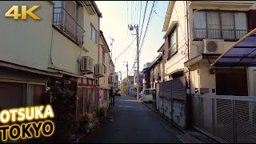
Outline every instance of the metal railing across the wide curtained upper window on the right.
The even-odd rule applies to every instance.
[[[205,29],[194,28],[194,40],[202,40],[204,38],[224,39],[226,41],[238,41],[245,36],[250,30],[224,30],[224,29]]]

